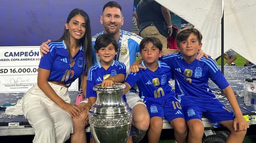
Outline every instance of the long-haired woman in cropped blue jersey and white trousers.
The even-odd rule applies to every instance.
[[[49,53],[41,58],[37,83],[24,94],[22,110],[34,129],[34,143],[64,143],[77,132],[72,119],[85,114],[70,104],[68,87],[86,71],[85,57],[91,54],[87,13],[73,9],[62,37],[47,46]]]

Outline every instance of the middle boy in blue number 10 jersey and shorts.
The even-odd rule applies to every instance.
[[[158,143],[165,117],[174,128],[175,139],[184,143],[187,137],[187,126],[183,111],[175,93],[168,81],[173,76],[171,68],[158,61],[162,56],[162,43],[156,37],[145,37],[140,43],[140,53],[143,58],[139,72],[130,72],[123,93],[129,91],[135,84],[138,85],[140,96],[145,96],[144,103],[150,114],[148,131],[149,143]]]

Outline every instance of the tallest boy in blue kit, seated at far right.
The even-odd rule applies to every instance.
[[[220,123],[230,130],[226,143],[242,143],[249,125],[238,106],[232,88],[213,59],[197,60],[202,47],[202,34],[193,27],[186,27],[176,36],[179,53],[162,56],[175,77],[175,93],[189,127],[189,143],[200,143],[204,134],[202,115],[213,124]],[[208,78],[225,93],[233,111],[224,106],[211,92]]]

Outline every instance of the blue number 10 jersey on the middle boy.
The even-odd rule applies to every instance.
[[[146,67],[144,61],[141,63]],[[125,82],[129,83],[132,87],[137,83],[140,96],[147,98],[160,98],[164,96],[175,96],[172,91],[172,86],[168,84],[169,79],[172,77],[171,68],[158,61],[158,69],[151,71],[149,69],[140,69],[139,72],[130,72]]]

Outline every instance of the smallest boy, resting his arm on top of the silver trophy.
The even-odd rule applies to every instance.
[[[89,69],[87,75],[86,97],[89,98],[91,105],[96,102],[97,98],[97,93],[93,90],[94,85],[101,83],[101,86],[112,86],[113,82],[123,82],[126,76],[125,65],[113,60],[117,54],[118,44],[112,35],[100,35],[95,41],[94,49],[100,61]],[[125,95],[123,97],[126,102]],[[78,128],[84,130],[86,124],[83,124],[81,120],[83,119],[77,120],[76,123],[81,124]],[[90,143],[94,142],[92,136],[90,138]],[[128,142],[132,143],[132,132]]]

